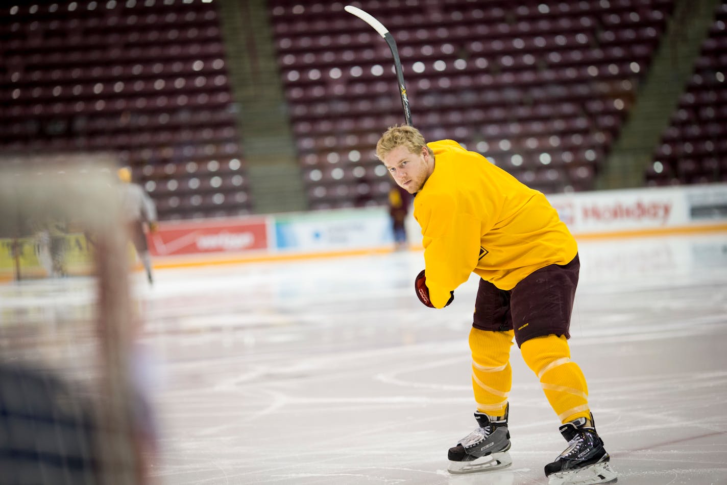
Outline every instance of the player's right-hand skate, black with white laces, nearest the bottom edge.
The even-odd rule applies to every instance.
[[[618,474],[611,470],[611,457],[603,448],[603,440],[591,419],[578,418],[559,428],[568,441],[568,448],[545,465],[548,485],[615,484]]]

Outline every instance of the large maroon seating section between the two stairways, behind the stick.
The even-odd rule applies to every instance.
[[[391,31],[414,125],[544,192],[593,188],[672,0],[354,1]],[[403,122],[383,39],[345,2],[270,0],[313,208],[384,203],[374,144]]]

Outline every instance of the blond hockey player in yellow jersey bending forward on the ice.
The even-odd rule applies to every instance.
[[[413,127],[391,127],[377,143],[396,184],[414,198],[425,269],[419,300],[443,308],[472,272],[475,299],[472,383],[477,429],[449,449],[449,471],[512,463],[507,430],[513,337],[561,420],[568,447],[545,465],[550,485],[616,481],[596,433],[581,369],[567,339],[579,259],[574,237],[545,196],[455,141],[425,143]]]

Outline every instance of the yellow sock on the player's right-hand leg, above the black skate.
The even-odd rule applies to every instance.
[[[545,397],[561,423],[585,417],[588,409],[588,386],[565,336],[548,335],[530,339],[520,347],[525,363],[540,379]]]

